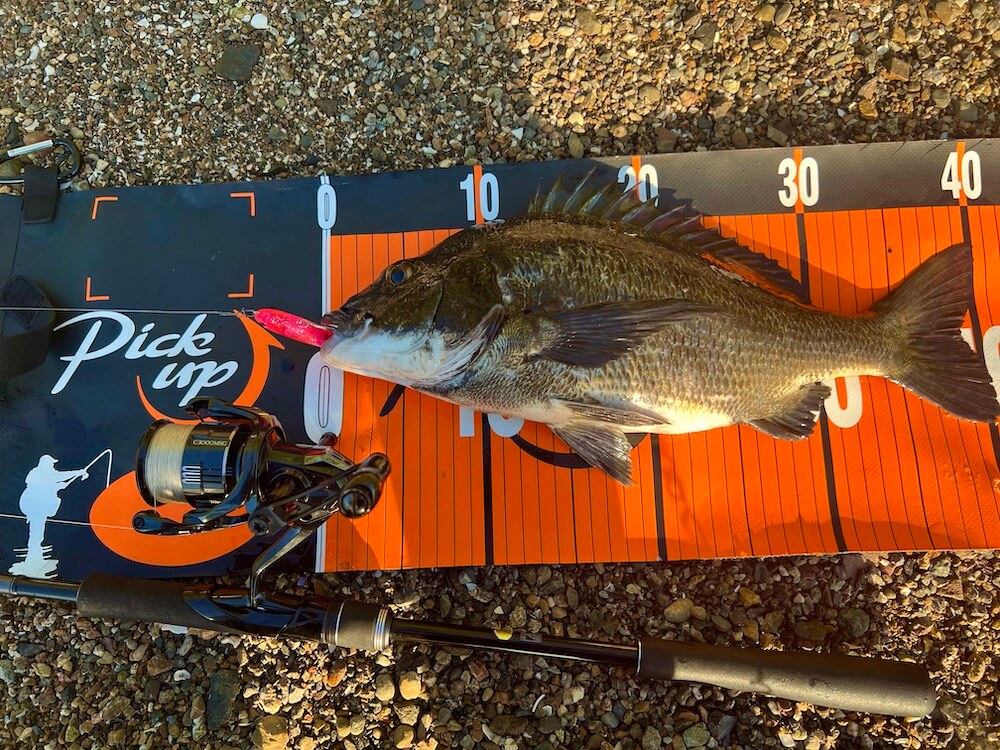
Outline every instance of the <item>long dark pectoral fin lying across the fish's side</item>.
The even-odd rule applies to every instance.
[[[537,330],[534,356],[576,367],[602,367],[666,326],[713,314],[723,313],[706,302],[661,299],[607,302],[525,318],[533,319]]]

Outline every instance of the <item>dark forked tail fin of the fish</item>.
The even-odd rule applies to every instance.
[[[900,337],[888,376],[957,417],[991,422],[1000,402],[982,357],[962,338],[972,246],[952,245],[920,265],[872,311]]]

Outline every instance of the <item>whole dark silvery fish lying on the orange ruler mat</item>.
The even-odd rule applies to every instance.
[[[971,247],[936,252],[869,310],[805,299],[773,259],[638,187],[560,177],[521,216],[395,262],[323,317],[323,359],[459,406],[548,425],[632,481],[631,433],[815,427],[832,378],[887,378],[954,417],[1000,414],[961,325]]]

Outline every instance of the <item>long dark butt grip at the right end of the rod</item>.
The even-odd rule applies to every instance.
[[[936,704],[934,686],[918,664],[842,654],[763,651],[639,641],[637,675],[703,682],[845,711],[921,717]]]

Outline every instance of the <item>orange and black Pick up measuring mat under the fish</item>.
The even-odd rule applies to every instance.
[[[356,460],[389,456],[375,510],[322,530],[319,571],[1000,546],[997,425],[881,378],[832,383],[798,443],[749,427],[637,435],[625,488],[547,427],[410,390],[394,398],[392,384],[340,372],[241,314],[318,320],[388,264],[519,215],[539,181],[595,167],[705,214],[828,310],[864,311],[934,253],[971,242],[964,332],[1000,383],[989,291],[1000,288],[1000,140],[99,190],[64,195],[48,224],[21,224],[19,199],[0,196],[0,283],[26,276],[57,309],[45,364],[0,383],[0,567],[66,579],[245,569],[261,543],[244,529],[131,527],[146,507],[139,439],[154,419],[186,418],[195,396],[254,404],[292,440],[336,433]],[[7,317],[4,335],[18,330]]]

